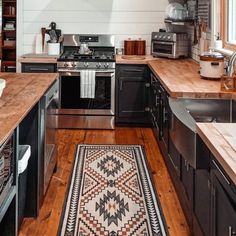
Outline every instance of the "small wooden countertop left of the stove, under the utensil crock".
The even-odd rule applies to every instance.
[[[51,56],[48,54],[34,54],[34,53],[29,53],[29,54],[24,54],[19,58],[20,63],[52,63],[56,64],[57,63],[57,58],[59,56]]]

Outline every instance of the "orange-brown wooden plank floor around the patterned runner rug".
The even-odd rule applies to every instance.
[[[37,219],[25,219],[20,235],[54,236],[60,220],[68,178],[71,173],[76,144],[142,144],[148,157],[155,186],[172,236],[189,235],[189,228],[177,195],[149,128],[116,128],[104,130],[59,130],[58,169],[47,191]]]

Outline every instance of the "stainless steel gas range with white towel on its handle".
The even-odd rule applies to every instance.
[[[59,128],[114,129],[115,37],[64,35]]]

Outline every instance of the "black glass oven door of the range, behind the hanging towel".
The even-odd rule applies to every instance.
[[[115,71],[98,71],[95,77],[95,98],[81,98],[80,73],[60,73],[61,109],[78,110],[94,114],[114,115]],[[75,112],[75,111],[74,111]]]

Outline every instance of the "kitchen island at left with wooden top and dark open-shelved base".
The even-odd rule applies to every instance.
[[[0,232],[17,235],[23,217],[37,216],[42,202],[45,126],[41,126],[41,98],[58,74],[1,73],[0,77],[6,80],[0,98],[0,157],[6,172],[1,179]],[[25,157],[26,147],[31,154],[22,170],[25,167],[18,160]]]

